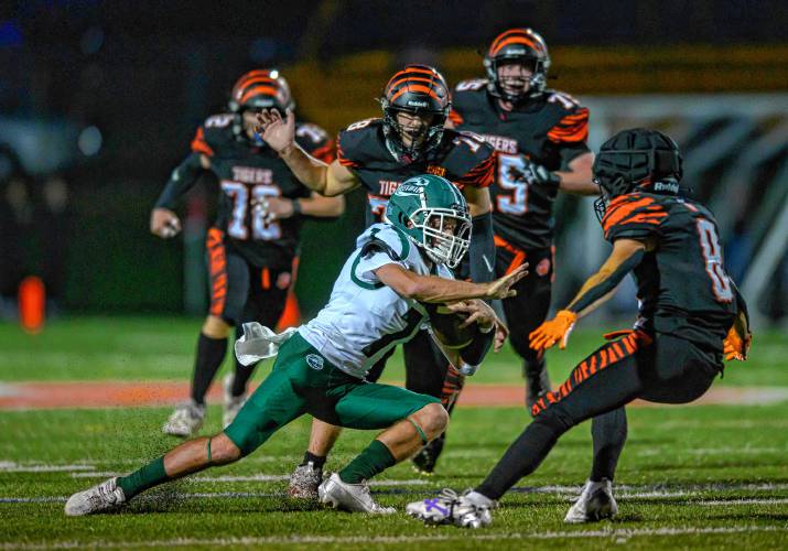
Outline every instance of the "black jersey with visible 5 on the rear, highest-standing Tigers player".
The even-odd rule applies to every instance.
[[[525,160],[559,171],[587,153],[589,109],[566,94],[546,90],[514,111],[504,111],[488,94],[486,79],[460,83],[452,101],[455,128],[479,134],[498,154],[490,187],[495,233],[522,249],[550,247],[558,188],[529,183]]]

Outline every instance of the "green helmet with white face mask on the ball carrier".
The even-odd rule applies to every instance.
[[[471,244],[471,214],[465,197],[449,180],[423,174],[397,187],[386,222],[420,247],[430,260],[455,268]]]

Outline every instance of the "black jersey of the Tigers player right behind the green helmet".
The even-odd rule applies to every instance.
[[[381,119],[355,122],[339,132],[337,160],[361,181],[367,192],[367,226],[380,222],[399,184],[419,174],[436,174],[456,184],[486,187],[495,175],[495,152],[487,143],[454,130],[423,158],[407,163],[389,151]]]

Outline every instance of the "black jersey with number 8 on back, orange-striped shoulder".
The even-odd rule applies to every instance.
[[[602,226],[611,242],[630,238],[655,244],[633,271],[638,324],[722,352],[737,305],[714,215],[684,197],[638,192],[611,202]]]

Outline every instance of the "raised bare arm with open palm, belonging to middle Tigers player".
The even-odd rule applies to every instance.
[[[356,176],[337,161],[328,165],[306,153],[295,142],[295,116],[290,109],[284,119],[276,109],[263,109],[257,115],[257,120],[259,125],[255,131],[310,190],[333,197],[358,186]]]

